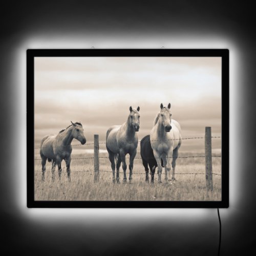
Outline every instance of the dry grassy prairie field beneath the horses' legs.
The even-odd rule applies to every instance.
[[[202,153],[180,153],[182,156],[202,156]],[[68,181],[65,161],[62,161],[61,178],[55,170],[52,180],[51,163],[46,164],[45,181],[41,180],[41,161],[35,160],[35,201],[220,201],[221,200],[221,157],[212,156],[212,172],[214,189],[206,190],[204,157],[178,158],[176,161],[176,183],[170,185],[158,183],[157,169],[155,183],[145,182],[145,169],[141,159],[134,160],[133,180],[129,183],[129,167],[127,164],[127,183],[123,183],[123,171],[120,167],[120,184],[113,184],[112,170],[108,154],[100,153],[100,176],[94,182],[93,154],[72,155],[71,182]],[[219,154],[217,154],[219,155]],[[137,152],[136,158],[140,154]],[[37,155],[35,157],[39,159]],[[87,158],[87,159],[74,159]],[[129,158],[126,157],[126,163]],[[149,175],[151,180],[151,176]]]

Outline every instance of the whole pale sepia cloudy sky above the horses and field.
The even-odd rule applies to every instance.
[[[205,126],[221,136],[220,57],[36,57],[34,93],[35,146],[70,121],[82,123],[88,143],[94,134],[105,141],[131,105],[140,106],[141,139],[169,102],[183,138],[204,136]],[[220,139],[212,144],[221,147]],[[204,150],[204,141],[184,140],[182,148]]]

